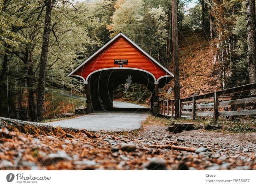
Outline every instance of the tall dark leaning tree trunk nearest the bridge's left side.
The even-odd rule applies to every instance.
[[[45,72],[46,64],[48,58],[48,48],[49,48],[49,36],[51,32],[51,14],[53,0],[45,0],[45,20],[44,20],[44,35],[42,42],[42,52],[39,64],[39,80],[37,88],[37,120],[43,119],[43,108],[44,108],[44,88],[45,88]]]

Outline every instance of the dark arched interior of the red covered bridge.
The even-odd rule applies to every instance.
[[[129,76],[131,76],[130,79]],[[171,79],[172,77],[165,77],[160,79],[158,84],[155,84],[155,80],[151,74],[140,70],[110,69],[99,71],[93,73],[88,79],[86,87],[87,99],[91,100],[91,103],[87,103],[87,105],[92,104],[92,110],[94,111],[113,108],[114,89],[120,84],[136,83],[145,85],[151,91],[152,108],[153,101],[158,100],[158,88],[164,87]],[[90,94],[88,94],[88,90]]]

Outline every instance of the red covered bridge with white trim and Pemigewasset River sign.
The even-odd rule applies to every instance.
[[[128,77],[131,75],[131,79]],[[158,112],[158,88],[172,80],[173,74],[149,56],[124,34],[119,33],[68,76],[86,84],[87,112],[113,107],[113,90],[120,84],[144,84],[151,92],[151,108]],[[154,106],[155,102],[155,106]]]

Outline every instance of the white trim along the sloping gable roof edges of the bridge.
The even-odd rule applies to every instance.
[[[90,59],[92,59],[94,56],[96,56],[98,53],[101,52],[101,50],[103,50],[104,48],[106,48],[110,43],[112,43],[114,40],[116,40],[117,37],[119,37],[120,35],[122,35],[125,39],[127,39],[130,43],[132,43],[137,49],[139,49],[143,54],[145,54],[149,59],[151,59],[152,61],[154,61],[158,66],[160,66],[162,69],[164,69],[168,74],[170,74],[172,77],[174,77],[174,75],[168,71],[166,68],[164,68],[164,66],[162,66],[160,63],[158,63],[154,58],[152,58],[151,56],[149,56],[147,54],[147,52],[145,52],[144,50],[142,50],[137,44],[133,43],[132,40],[130,40],[128,37],[126,37],[123,33],[119,33],[117,34],[115,37],[113,37],[107,44],[105,44],[104,46],[102,46],[100,48],[100,50],[98,50],[97,52],[95,52],[92,56],[90,56],[88,59],[86,59],[81,65],[79,65],[78,67],[76,67],[72,72],[70,72],[68,74],[68,76],[71,76],[74,72],[76,72],[76,70],[78,70],[81,66],[83,66],[87,61],[89,61]],[[75,75],[73,75],[75,76]],[[89,75],[88,75],[89,76]]]

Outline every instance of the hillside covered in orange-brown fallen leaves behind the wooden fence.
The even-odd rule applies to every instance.
[[[194,93],[203,94],[220,89],[219,78],[212,76],[213,58],[216,45],[202,34],[202,30],[186,30],[179,34],[180,60],[180,97],[189,97]],[[173,72],[173,61],[169,70]],[[172,87],[169,82],[160,94],[164,98],[173,98],[166,93]]]

